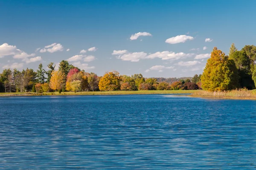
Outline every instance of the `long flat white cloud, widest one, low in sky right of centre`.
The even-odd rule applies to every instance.
[[[192,55],[193,54],[185,54],[183,52],[175,53],[172,51],[162,51],[162,52],[158,51],[154,54],[149,54],[146,58],[148,59],[160,58],[162,60],[166,60],[166,59],[180,59],[183,57],[190,57]]]

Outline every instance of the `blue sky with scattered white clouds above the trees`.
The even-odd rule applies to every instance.
[[[0,71],[67,60],[87,72],[191,77],[216,46],[256,45],[256,1],[0,0]]]

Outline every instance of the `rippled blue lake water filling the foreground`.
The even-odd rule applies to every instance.
[[[256,169],[256,101],[0,98],[0,169]]]

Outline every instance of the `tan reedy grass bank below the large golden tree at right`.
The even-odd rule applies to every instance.
[[[191,94],[193,97],[214,97],[214,98],[233,98],[233,99],[256,99],[256,91],[240,89],[232,91],[195,91]]]

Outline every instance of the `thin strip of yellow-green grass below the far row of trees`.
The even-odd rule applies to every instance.
[[[124,94],[191,94],[196,90],[172,90],[172,91],[84,91],[84,92],[49,92],[40,95],[124,95]],[[0,93],[0,96],[37,96],[37,93]]]

